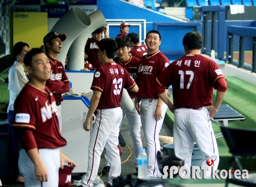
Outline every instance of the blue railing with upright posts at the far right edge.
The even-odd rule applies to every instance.
[[[229,64],[234,64],[240,68],[250,70],[251,72],[256,72],[255,61],[256,61],[256,28],[255,27],[242,27],[242,26],[228,26],[228,40],[227,43],[227,60]],[[240,36],[239,44],[239,61],[233,61],[233,39],[234,35]],[[248,66],[244,64],[245,57],[245,42],[244,37],[252,37],[252,65]]]

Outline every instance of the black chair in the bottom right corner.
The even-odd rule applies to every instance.
[[[233,169],[233,164],[235,163],[241,173],[243,173],[243,167],[239,161],[239,157],[255,157],[256,156],[256,144],[253,143],[256,137],[255,129],[238,129],[230,128],[226,126],[220,127],[224,138],[228,144],[229,152],[232,154],[232,158],[229,162],[229,169]],[[229,183],[236,184],[245,187],[255,187],[255,174],[249,174],[248,179],[235,179],[234,176],[229,179],[226,178],[226,185],[228,187]]]

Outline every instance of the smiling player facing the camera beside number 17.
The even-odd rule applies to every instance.
[[[147,143],[148,177],[161,177],[156,161],[156,153],[160,151],[159,132],[162,127],[167,105],[158,97],[155,90],[155,78],[169,66],[170,62],[159,51],[161,35],[156,30],[147,33],[145,44],[148,54],[139,61],[138,86],[139,92],[135,98]],[[166,90],[167,92],[167,90]],[[141,101],[140,105],[139,102]]]

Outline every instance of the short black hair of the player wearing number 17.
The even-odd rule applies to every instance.
[[[188,32],[184,36],[182,44],[184,49],[187,46],[187,50],[201,49],[203,47],[203,36],[200,32]]]

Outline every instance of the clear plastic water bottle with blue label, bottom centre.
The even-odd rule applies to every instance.
[[[139,161],[138,178],[145,179],[147,178],[148,156],[144,148],[140,149],[138,161]]]

